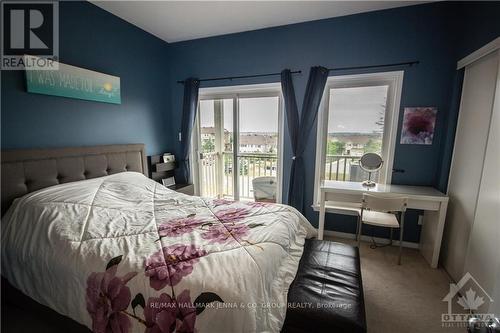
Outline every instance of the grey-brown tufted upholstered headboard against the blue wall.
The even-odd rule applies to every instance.
[[[15,198],[44,187],[124,171],[148,175],[143,144],[2,151],[2,216]]]

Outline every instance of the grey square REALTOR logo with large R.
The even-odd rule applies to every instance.
[[[57,69],[57,1],[2,1],[1,17],[2,70]]]

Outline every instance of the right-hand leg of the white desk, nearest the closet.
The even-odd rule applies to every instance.
[[[443,239],[447,202],[441,202],[438,211],[425,211],[422,233],[420,235],[420,252],[432,268],[437,268],[441,240]]]

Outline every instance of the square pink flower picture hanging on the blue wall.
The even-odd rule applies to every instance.
[[[405,108],[401,144],[431,145],[434,137],[437,108]]]

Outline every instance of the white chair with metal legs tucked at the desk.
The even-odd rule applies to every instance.
[[[399,228],[399,258],[398,265],[401,265],[401,252],[403,243],[403,228],[405,220],[406,207],[408,205],[407,197],[383,197],[379,195],[363,194],[361,204],[361,226],[358,229],[358,246],[361,240],[361,229],[363,224],[369,224],[377,227]],[[400,222],[396,217],[401,213]]]

